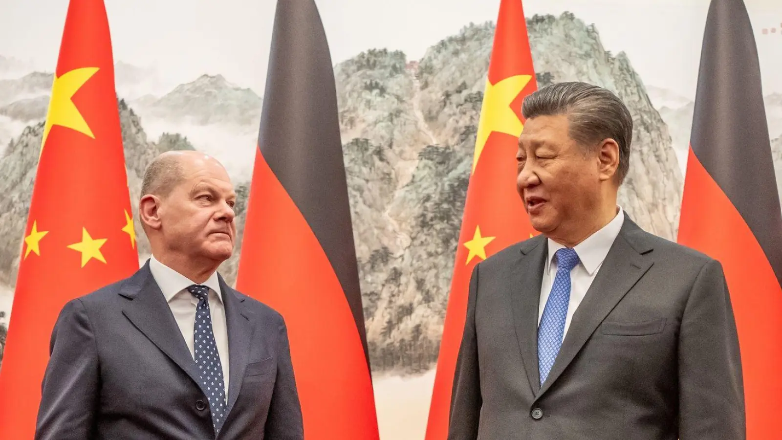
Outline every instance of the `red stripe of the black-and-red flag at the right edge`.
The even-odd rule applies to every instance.
[[[681,218],[679,243],[723,265],[741,346],[747,438],[779,438],[782,287],[752,230],[692,150]]]

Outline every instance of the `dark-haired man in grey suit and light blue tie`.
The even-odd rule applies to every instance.
[[[617,206],[626,106],[572,82],[522,114],[517,186],[541,234],[475,266],[449,440],[744,440],[722,266]]]

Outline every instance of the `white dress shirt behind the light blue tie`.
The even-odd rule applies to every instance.
[[[563,338],[568,333],[576,308],[579,307],[587,294],[594,277],[597,276],[597,270],[603,265],[605,256],[611,250],[616,236],[619,236],[619,230],[622,229],[624,222],[625,215],[622,208],[619,207],[619,212],[608,225],[604,225],[596,233],[588,236],[587,240],[583,240],[581,243],[576,244],[576,247],[573,247],[579,256],[579,264],[570,271],[570,302],[568,304],[568,316],[565,319],[565,333],[562,334]],[[547,242],[548,257],[546,258],[546,264],[543,266],[538,326],[540,326],[540,319],[543,317],[543,309],[546,308],[548,295],[551,293],[551,284],[554,283],[554,276],[557,275],[557,259],[554,258],[554,253],[565,247],[551,239],[547,239]],[[599,294],[598,292],[596,293]]]

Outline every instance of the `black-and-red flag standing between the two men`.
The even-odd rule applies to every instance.
[[[336,87],[313,0],[281,0],[236,287],[288,326],[305,438],[378,438]]]

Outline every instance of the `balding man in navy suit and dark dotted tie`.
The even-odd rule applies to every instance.
[[[152,258],[63,308],[35,438],[301,440],[282,316],[217,274],[236,236],[228,173],[163,153],[142,194]]]

